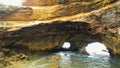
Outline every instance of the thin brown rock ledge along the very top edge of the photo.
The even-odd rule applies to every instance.
[[[100,2],[102,0],[27,0],[23,3],[26,6],[50,6],[57,4],[70,4],[73,2]],[[103,0],[104,2],[112,2],[112,0]]]

